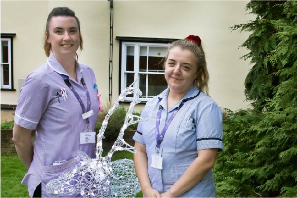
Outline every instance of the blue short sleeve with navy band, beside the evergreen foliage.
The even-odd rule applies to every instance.
[[[203,149],[223,149],[222,112],[214,101],[208,101],[198,111],[196,122],[197,151]]]

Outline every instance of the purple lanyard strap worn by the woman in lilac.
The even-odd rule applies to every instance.
[[[87,87],[85,85],[85,80],[82,78],[81,82],[85,88],[85,92],[86,92],[86,99],[87,99],[87,111],[85,111],[85,105],[80,97],[80,95],[76,92],[76,90],[74,89],[74,87],[72,86],[72,84],[70,83],[69,79],[65,76],[60,74],[60,76],[64,79],[64,82],[67,84],[67,86],[69,86],[70,90],[74,93],[75,97],[78,99],[78,101],[80,102],[80,105],[82,107],[83,112],[88,112],[90,111],[91,108],[91,99],[90,99],[90,94],[88,93]],[[89,126],[89,120],[88,118],[86,118],[86,124],[87,124],[87,129]]]

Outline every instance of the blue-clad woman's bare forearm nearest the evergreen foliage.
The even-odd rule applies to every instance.
[[[197,185],[206,173],[213,167],[216,152],[210,152],[213,157],[198,156],[187,168],[185,173],[170,187],[164,197],[178,197]],[[162,197],[163,197],[162,196]]]

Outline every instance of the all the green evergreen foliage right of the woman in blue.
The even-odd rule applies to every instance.
[[[223,120],[224,150],[214,179],[218,197],[297,197],[297,1],[251,1],[255,21],[243,58],[252,109]]]

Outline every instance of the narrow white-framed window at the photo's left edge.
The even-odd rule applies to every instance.
[[[13,89],[11,40],[12,38],[1,38],[1,89]]]

